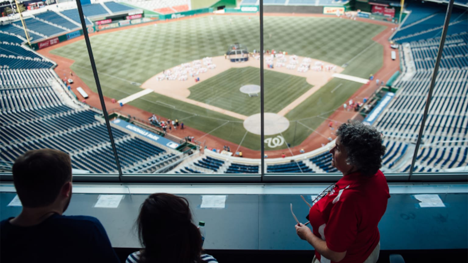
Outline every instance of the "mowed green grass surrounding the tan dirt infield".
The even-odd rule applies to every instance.
[[[143,83],[156,73],[181,63],[207,56],[223,55],[227,47],[236,42],[246,45],[249,51],[258,50],[260,46],[258,17],[252,17],[250,22],[248,19],[248,16],[236,15],[194,17],[91,37],[91,46],[104,95],[117,100],[124,98],[141,90],[132,82]],[[375,44],[372,37],[383,29],[385,27],[380,25],[332,17],[265,16],[264,47],[324,60],[338,66],[348,64],[344,74],[367,78],[370,73],[375,73],[382,66],[383,48]],[[74,59],[73,71],[96,91],[84,40],[51,52]],[[266,72],[265,70],[265,83],[269,81],[268,78],[275,78],[268,76]],[[235,76],[229,78],[236,79]],[[259,79],[258,75],[258,82]],[[208,81],[210,80],[200,84]],[[232,86],[237,86],[238,91],[239,85],[243,83],[242,78],[236,81]],[[331,93],[331,90],[340,84],[340,88]],[[292,146],[300,144],[360,86],[361,84],[348,80],[330,81],[319,92],[286,115],[291,125],[282,134],[285,140]],[[199,96],[195,92],[192,95]],[[213,97],[200,96],[198,100],[210,100],[213,105],[220,103],[222,95],[212,95]],[[290,94],[285,88],[279,88],[269,94],[268,86],[265,86],[267,100],[281,99],[287,95]],[[230,99],[231,97],[226,94],[223,100]],[[260,103],[251,103],[253,101],[250,100],[256,98],[248,99],[249,109],[242,110],[259,111]],[[211,135],[236,144],[242,141],[242,146],[251,149],[260,149],[260,136],[246,134],[242,121],[233,117],[159,94],[149,94],[129,104],[163,117],[183,119],[184,124],[198,130],[210,132]],[[225,107],[234,108],[233,111],[239,112],[241,108],[234,106],[239,104],[242,102],[233,102]],[[268,105],[274,107],[275,103],[266,101],[265,106],[270,107]],[[285,147],[283,145],[275,149]]]

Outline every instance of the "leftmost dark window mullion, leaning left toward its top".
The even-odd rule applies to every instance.
[[[96,82],[97,92],[99,94],[99,100],[101,102],[102,113],[104,114],[104,119],[106,120],[107,132],[109,133],[110,145],[112,146],[112,151],[114,152],[114,158],[116,160],[118,177],[119,181],[122,182],[122,168],[120,167],[120,162],[118,160],[117,148],[114,142],[114,137],[112,136],[112,130],[110,129],[109,115],[107,114],[106,104],[104,102],[104,96],[102,95],[101,83],[99,82],[99,77],[96,70],[96,64],[94,61],[93,51],[91,50],[91,42],[89,42],[88,30],[86,28],[85,17],[83,15],[83,8],[81,7],[80,0],[76,0],[76,7],[78,8],[78,14],[80,15],[81,28],[83,29],[83,35],[85,36],[86,47],[88,49],[89,61],[91,62],[91,68],[93,69],[94,79]]]

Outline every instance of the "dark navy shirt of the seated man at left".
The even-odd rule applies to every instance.
[[[36,226],[0,222],[0,262],[119,262],[106,230],[90,216],[53,214]]]

